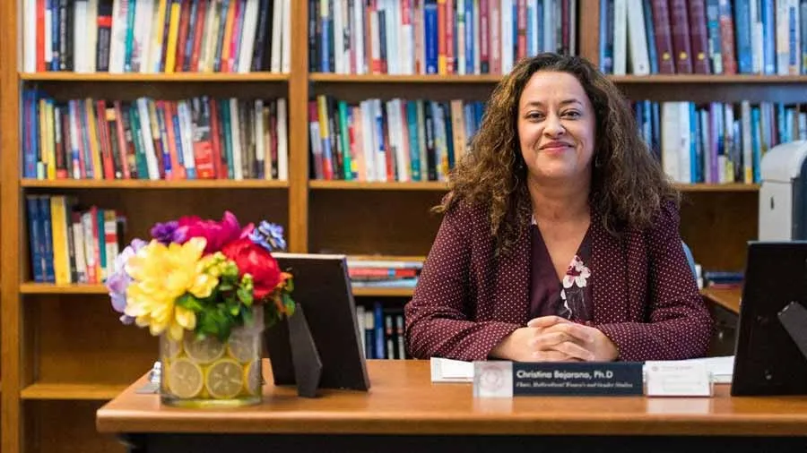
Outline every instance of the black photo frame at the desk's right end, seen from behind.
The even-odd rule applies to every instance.
[[[733,396],[807,395],[807,358],[797,344],[803,336],[792,335],[785,326],[787,317],[799,312],[792,303],[807,304],[807,241],[750,242]]]

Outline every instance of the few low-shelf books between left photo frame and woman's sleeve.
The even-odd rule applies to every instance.
[[[364,339],[362,350],[368,359],[406,359],[404,311],[382,303],[356,305],[356,320]]]

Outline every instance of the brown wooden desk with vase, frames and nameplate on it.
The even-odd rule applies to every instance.
[[[271,381],[265,366],[267,381]],[[227,451],[800,451],[807,397],[473,398],[471,384],[432,384],[427,361],[369,361],[369,393],[306,399],[266,385],[261,406],[188,410],[135,394],[137,381],[98,411],[100,432],[133,452]],[[338,435],[336,435],[338,434]],[[534,446],[535,449],[532,448]]]

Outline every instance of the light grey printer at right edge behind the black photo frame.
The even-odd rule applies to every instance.
[[[759,241],[807,240],[807,141],[771,148],[759,169]]]

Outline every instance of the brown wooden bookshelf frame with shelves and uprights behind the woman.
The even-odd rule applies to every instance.
[[[29,444],[56,436],[48,447],[58,448],[58,436],[72,432],[94,432],[94,417],[87,401],[105,400],[124,389],[128,381],[72,380],[42,377],[50,372],[41,369],[38,354],[42,354],[37,336],[48,332],[39,326],[43,312],[50,307],[71,306],[90,311],[94,306],[108,304],[106,290],[100,285],[56,286],[35,284],[27,278],[27,230],[22,201],[25,192],[71,192],[91,199],[108,200],[109,194],[121,198],[140,196],[141,190],[160,194],[194,197],[204,200],[214,194],[232,193],[234,198],[249,196],[255,202],[261,197],[284,201],[286,204],[287,236],[291,252],[338,251],[351,255],[375,255],[379,259],[403,259],[416,255],[422,259],[437,230],[439,218],[429,208],[447,190],[442,182],[429,183],[355,183],[343,181],[308,180],[308,98],[309,94],[333,92],[350,98],[397,96],[443,96],[484,98],[500,80],[499,75],[469,76],[390,76],[343,75],[308,72],[308,2],[292,0],[291,10],[291,72],[290,73],[173,73],[173,74],[108,74],[108,73],[22,73],[19,18],[20,0],[0,2],[0,107],[4,112],[0,129],[0,449],[5,453],[29,451]],[[597,63],[599,8],[596,0],[579,0],[579,53]],[[807,76],[757,75],[651,75],[612,77],[629,97],[646,96],[657,100],[683,99],[694,93],[700,100],[788,98],[794,95],[807,101],[803,87]],[[289,178],[278,181],[32,181],[21,178],[20,94],[23,83],[41,83],[47,87],[79,87],[79,90],[131,89],[139,84],[169,87],[185,92],[203,93],[215,88],[219,92],[238,87],[269,87],[288,99]],[[192,83],[190,83],[192,82]],[[223,87],[223,88],[222,88]],[[685,90],[685,91],[682,91]],[[66,89],[65,89],[66,90]],[[309,92],[310,91],[310,92]],[[756,236],[756,209],[759,186],[756,184],[682,184],[684,192],[681,234],[690,244],[696,259],[705,268],[738,268],[744,261],[745,241]],[[256,192],[262,191],[262,192]],[[247,195],[242,195],[246,193]],[[260,195],[257,195],[260,193]],[[189,195],[194,194],[194,195]],[[178,195],[180,196],[180,195]],[[196,196],[199,200],[196,199]],[[106,198],[104,198],[106,197]],[[379,210],[380,209],[380,210]],[[168,212],[168,209],[166,209]],[[185,214],[181,206],[175,215]],[[358,230],[358,233],[357,233]],[[140,232],[144,233],[144,232]],[[386,256],[385,256],[386,255]],[[412,258],[412,257],[409,257]],[[405,299],[412,295],[408,288],[355,288],[357,297],[392,297]],[[104,305],[107,306],[107,305]],[[66,310],[66,309],[63,309]],[[150,343],[145,331],[131,327],[113,327],[115,316],[108,310],[92,312],[95,323],[103,329],[126,331],[126,338],[139,338],[137,349],[149,357]],[[133,332],[133,333],[130,333]],[[52,340],[52,338],[51,338]],[[153,351],[156,356],[156,350]],[[79,357],[78,360],[81,360]],[[141,357],[142,359],[142,357]],[[137,359],[137,360],[141,360]],[[142,372],[143,370],[140,370]],[[138,374],[139,375],[139,374]],[[127,379],[127,378],[126,378]],[[43,406],[45,405],[45,406]],[[48,405],[58,410],[78,410],[76,414],[50,422],[54,431],[27,429],[36,424]],[[62,413],[65,413],[64,411]],[[33,420],[33,422],[32,422]],[[88,436],[81,450],[108,451],[113,440],[95,440]],[[45,445],[44,443],[42,444]],[[42,447],[45,449],[45,447]]]

